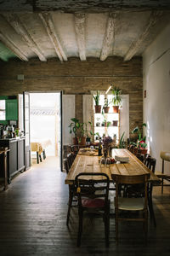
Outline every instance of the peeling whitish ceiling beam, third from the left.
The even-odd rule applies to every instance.
[[[59,56],[59,60],[61,62],[67,61],[67,56],[65,55],[65,51],[60,43],[59,36],[55,32],[54,22],[52,20],[52,16],[49,13],[39,14],[42,24],[48,32],[48,37],[50,38],[52,44],[54,45],[54,49],[56,54]]]

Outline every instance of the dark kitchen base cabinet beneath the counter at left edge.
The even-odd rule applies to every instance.
[[[7,176],[8,183],[10,183],[11,177],[25,169],[25,138],[2,139],[0,140],[0,147],[8,147],[10,149],[7,158]],[[3,166],[0,167],[2,177]]]

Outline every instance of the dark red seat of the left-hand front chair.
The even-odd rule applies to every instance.
[[[105,200],[100,198],[82,198],[82,207],[87,208],[102,208],[105,207]]]

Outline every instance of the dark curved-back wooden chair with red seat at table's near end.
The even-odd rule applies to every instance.
[[[92,179],[92,177],[94,179]],[[83,212],[98,212],[102,214],[105,222],[105,243],[109,246],[109,226],[110,226],[110,201],[109,177],[102,172],[82,172],[75,179],[78,196],[78,234],[77,247],[81,245],[82,217]]]

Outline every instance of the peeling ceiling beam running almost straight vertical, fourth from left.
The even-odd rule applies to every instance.
[[[75,14],[75,28],[77,32],[77,44],[81,61],[86,61],[85,47],[85,14]]]

